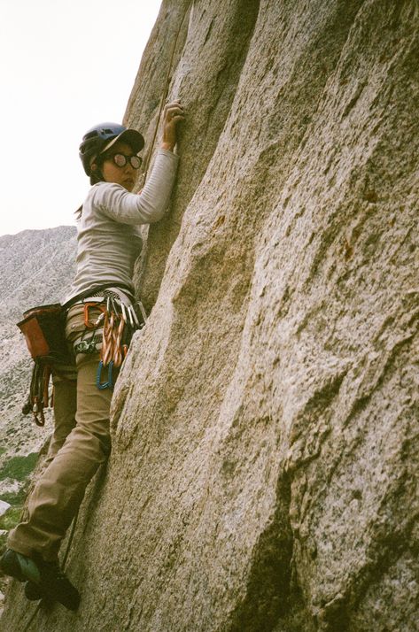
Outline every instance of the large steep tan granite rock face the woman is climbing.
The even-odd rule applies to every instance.
[[[151,318],[70,552],[80,611],[31,629],[417,629],[418,33],[415,0],[163,2],[126,117],[150,141],[179,35]],[[4,629],[23,608],[13,585]]]

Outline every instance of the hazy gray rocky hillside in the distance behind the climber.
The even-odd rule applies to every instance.
[[[0,497],[19,490],[20,481],[1,474],[10,474],[7,464],[38,451],[48,434],[21,413],[32,360],[16,322],[28,308],[66,295],[75,252],[76,228],[71,226],[0,237]]]

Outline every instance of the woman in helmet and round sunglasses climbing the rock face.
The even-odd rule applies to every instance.
[[[93,185],[81,207],[77,266],[63,309],[74,350],[74,380],[53,375],[55,430],[49,465],[29,497],[27,519],[12,529],[0,560],[4,574],[27,582],[29,599],[46,598],[76,610],[80,595],[58,563],[86,487],[111,449],[113,382],[140,327],[132,274],[141,247],[137,227],[160,220],[169,203],[178,157],[174,153],[182,105],[167,104],[163,139],[150,177],[133,194],[144,138],[114,123],[83,136],[80,158]]]

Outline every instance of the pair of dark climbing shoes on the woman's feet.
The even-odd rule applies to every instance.
[[[57,562],[45,562],[40,557],[27,558],[21,553],[8,549],[0,559],[0,567],[4,574],[11,575],[18,582],[28,581],[30,584],[35,584],[35,588],[41,593],[40,597],[35,597],[32,586],[25,590],[25,592],[29,591],[29,595],[34,600],[47,598],[50,601],[58,601],[68,610],[77,610],[79,607],[79,592],[60,570]]]

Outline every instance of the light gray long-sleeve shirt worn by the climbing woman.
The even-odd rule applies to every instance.
[[[132,288],[132,274],[141,251],[138,226],[163,217],[175,181],[178,157],[158,150],[141,194],[120,184],[98,182],[83,204],[77,235],[77,268],[65,302],[81,292],[115,282]]]

